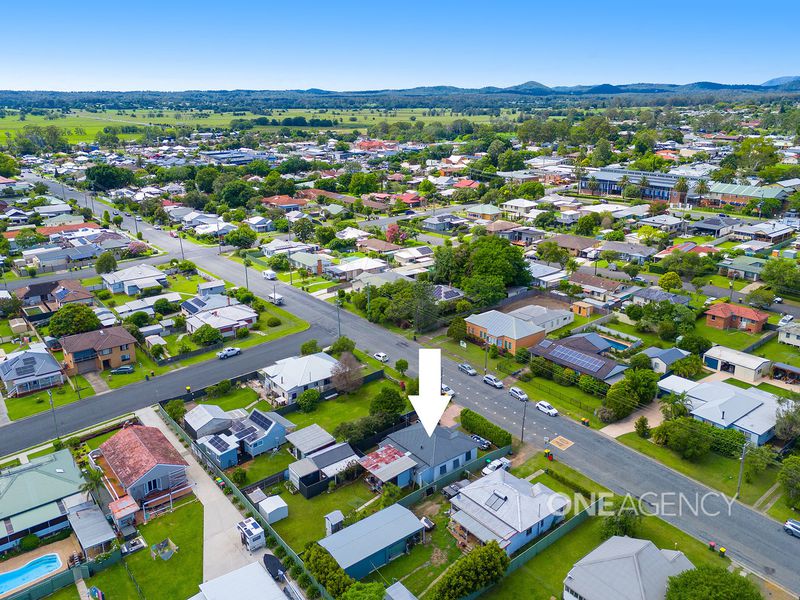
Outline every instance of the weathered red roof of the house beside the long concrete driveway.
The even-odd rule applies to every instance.
[[[158,465],[188,467],[178,451],[155,427],[131,425],[100,444],[108,466],[128,488]]]

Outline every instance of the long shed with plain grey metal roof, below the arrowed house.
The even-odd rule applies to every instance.
[[[319,541],[353,579],[363,579],[422,539],[422,523],[399,504],[379,510]],[[380,532],[380,535],[376,535]]]

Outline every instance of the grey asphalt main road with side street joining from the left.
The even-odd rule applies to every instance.
[[[60,187],[60,186],[59,186]],[[170,253],[179,252],[178,240],[161,231],[144,226],[145,238]],[[184,251],[188,244],[184,245]],[[187,252],[187,258],[189,258]],[[217,254],[215,248],[192,247],[191,260],[236,285],[244,285],[244,267]],[[413,374],[417,364],[416,342],[394,335],[346,311],[339,311],[327,302],[280,282],[263,280],[258,271],[249,274],[250,288],[258,295],[275,289],[283,295],[286,310],[311,323],[301,334],[246,350],[242,356],[226,361],[211,361],[188,367],[94,398],[76,402],[56,410],[60,431],[73,431],[100,422],[134,408],[177,395],[186,385],[195,388],[238,373],[265,366],[271,361],[296,353],[299,344],[316,338],[328,343],[341,333],[353,339],[359,348],[370,353],[386,352],[394,363],[398,358],[409,361]],[[480,365],[473,365],[480,369]],[[520,435],[525,405],[512,399],[507,390],[497,390],[458,371],[446,357],[442,360],[442,381],[456,392],[455,401],[472,408],[498,425]],[[535,400],[535,399],[533,399]],[[52,437],[52,416],[45,413],[18,421],[2,429],[0,454],[6,454],[45,441]],[[728,549],[728,555],[754,572],[780,585],[800,592],[800,540],[786,535],[780,523],[742,504],[733,502],[728,514],[726,499],[695,480],[689,479],[616,440],[562,417],[547,417],[528,405],[525,420],[525,441],[542,448],[545,437],[561,435],[573,442],[567,450],[556,450],[556,460],[581,471],[617,493],[645,496],[659,505],[665,520],[701,541],[715,541]],[[684,498],[682,510],[675,503]],[[698,503],[704,499],[703,506]],[[728,501],[729,502],[729,501]],[[702,509],[705,509],[703,511]],[[674,514],[671,514],[674,513]],[[712,516],[713,513],[718,513]]]

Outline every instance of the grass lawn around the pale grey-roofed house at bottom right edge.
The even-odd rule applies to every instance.
[[[587,519],[503,579],[481,598],[490,600],[560,598],[564,591],[564,578],[572,565],[602,543],[602,524],[603,521],[599,517]],[[709,552],[705,544],[657,517],[642,519],[636,537],[651,540],[661,549],[680,550],[695,566],[710,564],[727,567],[730,562],[719,554]]]

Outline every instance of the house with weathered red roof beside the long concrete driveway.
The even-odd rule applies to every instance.
[[[113,479],[113,496],[128,495],[147,505],[191,491],[186,476],[189,464],[156,427],[124,427],[99,449],[102,460],[97,462],[106,477]]]

